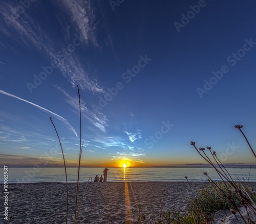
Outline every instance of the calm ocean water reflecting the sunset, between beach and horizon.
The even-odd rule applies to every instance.
[[[104,168],[81,168],[80,182],[87,182],[90,177],[94,180],[96,174],[103,176]],[[77,168],[67,168],[68,182],[76,182]],[[239,168],[227,169],[231,175],[239,176],[239,178],[248,179],[249,169]],[[108,182],[123,181],[206,181],[203,172],[215,181],[220,180],[216,171],[212,168],[109,168]],[[3,183],[3,178],[1,178]],[[9,183],[40,183],[40,182],[66,182],[64,168],[41,168],[33,170],[33,168],[9,168]],[[256,182],[256,169],[250,171],[250,181]]]

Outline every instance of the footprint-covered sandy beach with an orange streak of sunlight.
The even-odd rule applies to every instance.
[[[110,182],[91,183],[83,196],[77,223],[137,223],[139,211],[145,220],[159,217],[161,211],[185,211],[189,198],[205,182]],[[79,201],[86,183],[79,184]],[[69,223],[75,210],[76,184],[69,184]],[[3,203],[1,204],[1,211]],[[224,213],[221,213],[224,215]],[[10,223],[65,223],[66,184],[9,184]],[[225,213],[225,223],[232,220]],[[26,217],[25,217],[26,216]],[[221,220],[220,216],[218,217]],[[2,222],[1,222],[2,223]],[[6,222],[8,223],[8,222]],[[218,222],[219,223],[219,222]]]

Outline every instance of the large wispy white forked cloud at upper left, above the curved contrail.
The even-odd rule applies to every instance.
[[[64,40],[59,39],[58,44],[54,44],[51,38],[51,34],[44,30],[36,18],[31,18],[26,11],[22,14],[17,13],[17,6],[14,4],[2,3],[0,8],[0,14],[9,21],[9,26],[1,26],[0,32],[2,32],[8,39],[12,39],[15,42],[22,43],[27,48],[36,48],[42,53],[50,62],[54,62],[57,68],[61,71],[62,75],[68,79],[73,87],[79,84],[81,89],[88,89],[91,93],[104,93],[104,89],[98,84],[95,78],[89,77],[88,73],[84,71],[77,55],[73,52],[71,55],[63,54],[61,51],[67,48],[72,43],[73,36],[68,35],[69,38]],[[65,17],[70,18],[70,23],[75,24],[76,30],[74,32],[80,35],[83,42],[92,42],[96,45],[96,25],[94,25],[93,8],[90,1],[58,1],[58,7],[64,9],[66,12]],[[13,17],[17,19],[13,19]],[[61,23],[59,17],[57,17]],[[38,19],[39,20],[39,19]],[[62,25],[63,26],[63,25]],[[18,34],[18,35],[17,35]],[[6,44],[0,42],[1,46],[12,49],[12,44]],[[56,49],[56,46],[59,49]],[[63,59],[59,56],[59,53],[65,56]]]

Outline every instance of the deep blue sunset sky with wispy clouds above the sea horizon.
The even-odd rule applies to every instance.
[[[256,2],[0,1],[0,164],[255,164]]]

